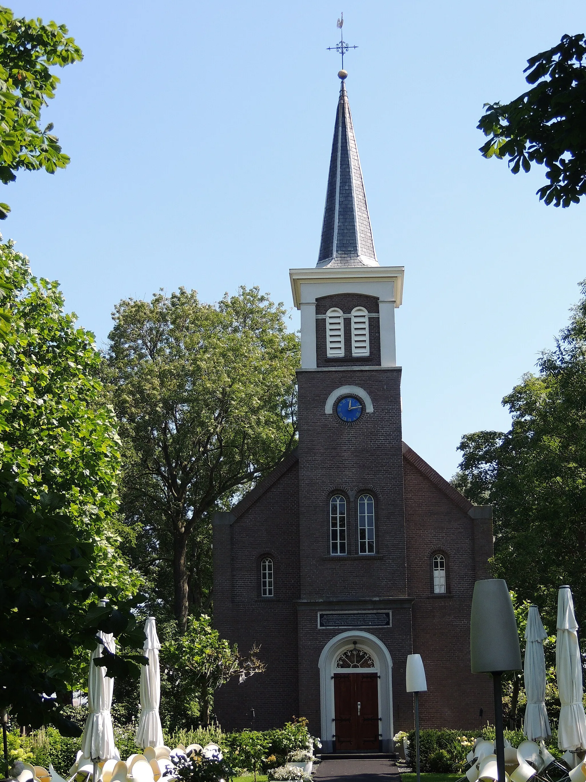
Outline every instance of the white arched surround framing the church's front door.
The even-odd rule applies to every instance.
[[[378,680],[378,716],[381,717],[379,733],[381,751],[391,752],[393,738],[393,691],[392,669],[393,661],[388,648],[376,636],[363,630],[349,630],[332,638],[323,647],[320,655],[320,711],[321,711],[321,741],[323,752],[332,752],[334,734],[334,666],[338,657],[346,649],[352,649],[353,641],[358,641],[361,649],[372,656],[380,676]],[[362,669],[364,670],[364,669]],[[338,672],[339,673],[339,672]],[[348,673],[348,669],[344,669]]]

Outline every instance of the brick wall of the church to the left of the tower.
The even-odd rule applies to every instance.
[[[266,662],[265,673],[217,691],[214,711],[223,730],[251,727],[252,709],[257,730],[298,714],[298,518],[295,461],[233,524],[214,525],[214,625],[243,653],[259,644]],[[259,594],[263,555],[273,559],[273,598]]]

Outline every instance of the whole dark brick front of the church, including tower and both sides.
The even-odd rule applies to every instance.
[[[318,627],[320,611],[391,612],[391,626],[366,628],[392,665],[384,684],[392,717],[381,716],[381,748],[391,748],[389,735],[413,727],[413,697],[405,689],[406,658],[413,651],[427,672],[423,727],[476,728],[480,709],[484,723],[492,719],[491,681],[470,673],[469,637],[474,582],[490,576],[490,509],[474,508],[402,443],[401,368],[380,365],[377,317],[369,318],[370,357],[327,359],[323,315],[330,307],[349,314],[359,306],[378,314],[376,296],[316,298],[317,366],[298,370],[298,449],[230,514],[214,519],[214,622],[242,651],[260,645],[266,662],[266,673],[216,694],[224,730],[266,730],[301,715],[312,734],[334,748],[335,729],[323,712],[332,677],[325,669],[320,673],[320,656],[341,630]],[[345,328],[350,345],[349,317]],[[337,398],[334,412],[326,411],[326,400],[342,386],[363,389],[363,401],[372,401],[372,411],[365,404],[353,424],[335,414]],[[346,500],[345,555],[330,553],[333,493]],[[374,499],[375,554],[359,554],[361,493]],[[434,553],[447,562],[446,594],[433,591]],[[264,556],[274,566],[270,598],[260,591]],[[358,628],[356,635],[362,637]]]

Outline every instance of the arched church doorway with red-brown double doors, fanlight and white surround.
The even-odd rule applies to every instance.
[[[340,633],[323,647],[319,665],[324,751],[333,752],[334,748],[338,751],[371,749],[367,744],[372,744],[376,734],[373,725],[376,721],[380,749],[390,752],[393,737],[393,664],[387,647],[377,637],[362,630]],[[337,735],[341,741],[336,742]]]

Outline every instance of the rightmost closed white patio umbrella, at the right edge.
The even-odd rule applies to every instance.
[[[575,752],[586,748],[586,715],[582,705],[582,665],[577,622],[570,587],[559,587],[556,638],[556,675],[559,712],[558,746]]]

